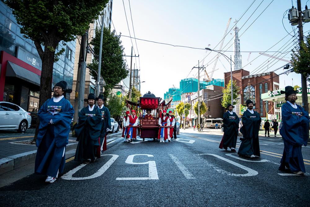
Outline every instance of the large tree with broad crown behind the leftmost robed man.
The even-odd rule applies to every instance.
[[[39,108],[51,98],[53,64],[64,52],[55,54],[60,41],[70,42],[85,33],[89,24],[98,18],[108,0],[5,0],[13,9],[20,33],[34,42],[42,60]],[[38,124],[36,135],[38,134]],[[33,141],[36,140],[36,136]]]

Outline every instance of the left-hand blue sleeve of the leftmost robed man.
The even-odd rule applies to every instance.
[[[36,140],[36,146],[38,147],[46,133],[48,123],[53,118],[53,115],[47,113],[47,103],[50,99],[44,102],[44,104],[41,106],[41,108],[38,111],[38,118],[40,120],[39,124],[39,131],[38,136]]]

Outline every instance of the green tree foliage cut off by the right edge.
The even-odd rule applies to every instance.
[[[310,81],[310,34],[300,47],[298,45],[292,50],[291,64],[294,72],[303,74]]]

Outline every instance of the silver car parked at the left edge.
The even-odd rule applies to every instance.
[[[30,113],[10,102],[0,101],[0,130],[24,133],[31,125]]]

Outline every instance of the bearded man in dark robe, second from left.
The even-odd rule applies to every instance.
[[[87,101],[88,106],[82,108],[78,113],[78,124],[74,129],[78,137],[74,160],[87,164],[95,162],[96,157],[100,157],[96,149],[100,146],[102,115],[100,109],[95,106],[95,95],[93,93],[90,93],[84,101]]]

